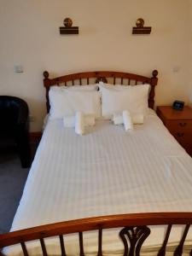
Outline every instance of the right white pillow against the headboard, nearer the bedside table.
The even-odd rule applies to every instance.
[[[100,86],[102,93],[102,116],[111,119],[114,113],[128,110],[131,116],[148,113],[149,84],[127,86],[125,90]]]

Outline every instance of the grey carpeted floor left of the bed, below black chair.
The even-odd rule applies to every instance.
[[[32,147],[32,155],[36,148]],[[28,172],[28,168],[21,168],[15,150],[0,152],[0,234],[10,230]]]

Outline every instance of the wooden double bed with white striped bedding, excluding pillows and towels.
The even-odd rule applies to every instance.
[[[48,113],[51,86],[93,79],[150,84],[150,110],[129,135],[99,119],[79,137],[48,119],[0,255],[192,255],[192,160],[154,113],[157,74],[44,72]]]

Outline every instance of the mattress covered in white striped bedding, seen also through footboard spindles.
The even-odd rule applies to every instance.
[[[120,213],[192,212],[191,171],[192,159],[153,111],[131,132],[98,119],[79,136],[64,128],[61,119],[48,120],[10,231]],[[151,230],[143,255],[154,255],[165,235],[162,227]],[[103,254],[122,254],[117,230],[105,233]],[[181,234],[182,228],[175,227],[168,250]],[[96,254],[96,237],[96,232],[85,234],[86,254]],[[72,246],[77,242],[77,236],[68,236],[69,255],[79,254]],[[60,255],[57,243],[55,238],[46,240],[49,254]],[[37,242],[27,247],[31,255],[41,254]],[[19,251],[14,246],[4,253],[22,255]]]

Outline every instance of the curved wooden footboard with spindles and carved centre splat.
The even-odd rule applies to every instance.
[[[61,255],[66,255],[64,245],[64,235],[79,233],[79,252],[84,256],[84,238],[83,232],[89,230],[98,230],[98,256],[102,255],[102,230],[121,228],[119,236],[124,244],[124,255],[140,255],[140,250],[150,235],[152,225],[167,225],[166,236],[160,247],[158,256],[166,255],[166,245],[172,231],[173,224],[185,225],[183,236],[179,241],[174,255],[182,255],[183,244],[189,226],[192,224],[192,212],[160,212],[160,213],[132,213],[102,216],[96,218],[82,218],[72,221],[65,221],[55,224],[47,224],[26,230],[10,232],[0,235],[0,248],[20,243],[23,254],[30,255],[27,252],[26,241],[39,240],[43,255],[48,255],[44,238],[59,236]],[[123,228],[122,228],[123,227]],[[0,252],[2,256],[3,253]],[[192,255],[192,250],[189,255]]]

